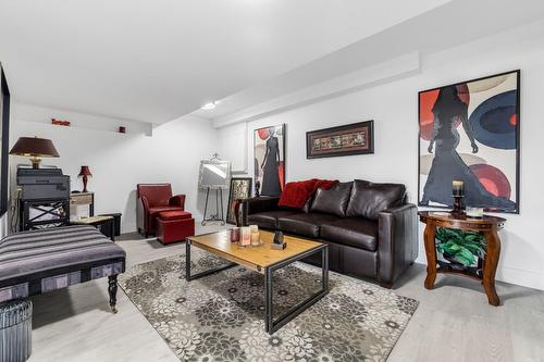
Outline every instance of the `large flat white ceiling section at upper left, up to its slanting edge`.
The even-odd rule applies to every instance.
[[[163,123],[447,2],[0,0],[0,61],[18,102]]]

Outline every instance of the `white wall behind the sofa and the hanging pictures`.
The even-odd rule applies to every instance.
[[[254,129],[286,123],[287,180],[323,177],[403,183],[410,201],[417,202],[418,91],[521,68],[521,214],[505,215],[508,222],[500,233],[497,278],[544,289],[544,242],[540,230],[544,220],[544,23],[441,53],[422,54],[421,61],[418,75],[249,122],[248,160],[252,160]],[[306,132],[366,120],[374,120],[374,154],[306,159]],[[251,161],[248,168],[251,174]],[[425,262],[422,238],[418,262]]]

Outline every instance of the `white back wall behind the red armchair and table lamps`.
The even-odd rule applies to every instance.
[[[121,212],[122,230],[136,230],[136,184],[172,183],[174,194],[187,195],[186,209],[200,219],[202,195],[197,191],[200,160],[209,159],[217,150],[217,130],[209,121],[187,116],[153,128],[152,136],[119,134],[107,129],[48,124],[58,110],[35,109],[16,104],[11,117],[10,147],[21,136],[52,139],[59,159],[44,159],[44,164],[62,167],[71,176],[72,189],[81,190],[79,167],[89,165],[92,177],[88,189],[95,192],[95,213]],[[64,112],[77,124],[86,115]],[[96,116],[94,116],[97,118]],[[98,123],[115,124],[98,117]],[[37,120],[47,120],[38,122]],[[35,122],[36,121],[36,122]],[[134,125],[133,125],[134,126]],[[134,128],[133,128],[134,129]],[[28,159],[10,157],[12,185],[15,166]]]

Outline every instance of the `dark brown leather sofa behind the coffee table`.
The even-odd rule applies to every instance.
[[[277,207],[280,198],[243,201],[243,224],[318,239],[329,245],[331,270],[393,283],[418,255],[417,207],[406,187],[362,179],[318,191],[302,210]],[[305,260],[319,265],[319,258]]]

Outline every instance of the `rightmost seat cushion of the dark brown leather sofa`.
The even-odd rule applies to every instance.
[[[378,249],[378,222],[362,217],[347,217],[321,226],[322,239],[354,248],[375,251]]]

